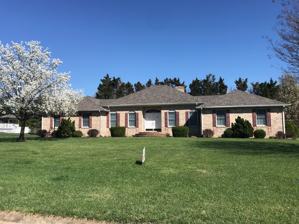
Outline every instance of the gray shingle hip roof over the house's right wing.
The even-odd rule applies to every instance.
[[[225,95],[216,97],[199,108],[205,107],[229,107],[229,106],[262,106],[262,105],[285,105],[288,104],[279,102],[273,99],[268,99],[262,96],[257,96],[251,93],[245,93],[240,90],[233,90]]]

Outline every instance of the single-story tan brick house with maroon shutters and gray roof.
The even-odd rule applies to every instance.
[[[251,122],[254,130],[263,129],[266,137],[285,132],[283,102],[234,90],[225,95],[191,96],[184,87],[155,85],[120,99],[96,99],[86,96],[77,106],[76,130],[87,136],[96,128],[101,136],[110,136],[112,126],[125,126],[126,135],[143,132],[170,133],[171,127],[189,127],[189,136],[202,136],[210,128],[214,137],[222,136],[237,116]],[[42,129],[51,133],[61,122],[60,115],[42,118]],[[54,122],[55,121],[55,122]]]

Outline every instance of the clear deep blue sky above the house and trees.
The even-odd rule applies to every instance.
[[[40,41],[88,96],[106,73],[133,85],[176,77],[188,86],[212,73],[235,86],[239,77],[277,80],[284,65],[268,59],[262,39],[278,38],[271,27],[281,8],[272,0],[1,0],[0,8],[1,44]]]

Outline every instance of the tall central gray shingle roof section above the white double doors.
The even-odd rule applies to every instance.
[[[175,104],[175,103],[200,103],[195,96],[183,93],[167,85],[154,85],[128,96],[115,99],[106,105],[146,105],[146,104]]]

